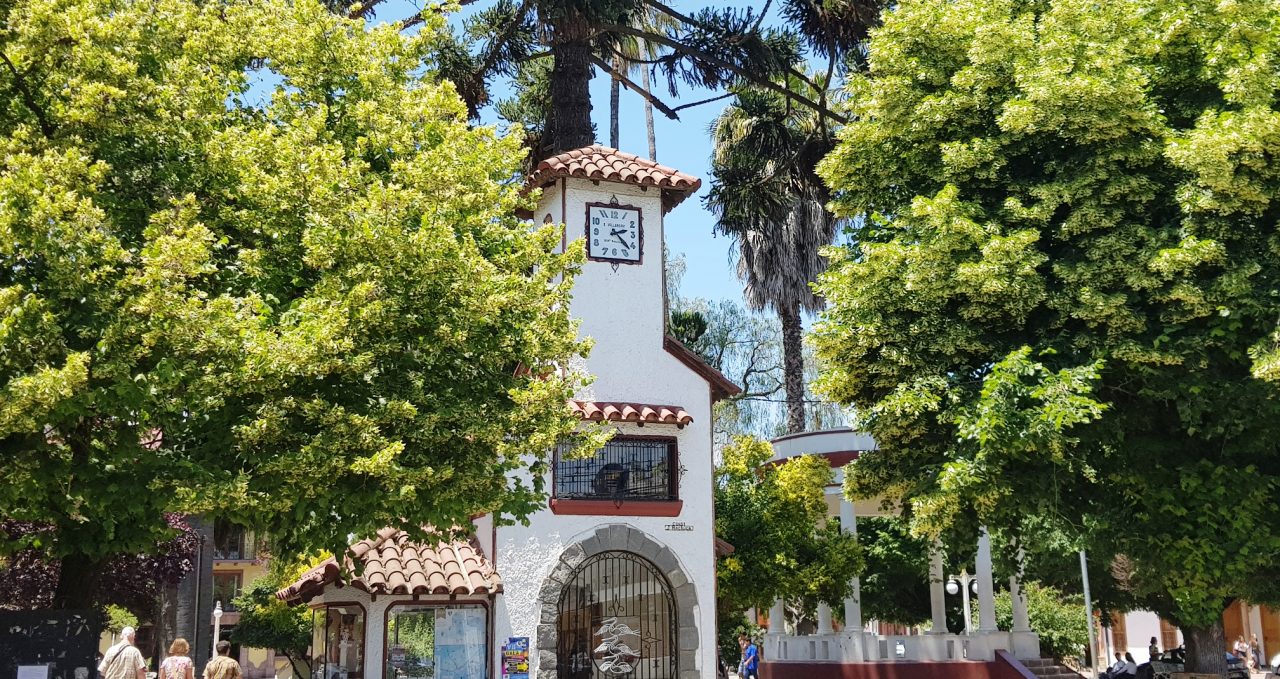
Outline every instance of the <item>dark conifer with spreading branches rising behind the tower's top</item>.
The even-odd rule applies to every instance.
[[[338,12],[349,17],[372,17],[387,0],[366,0],[351,4],[347,0],[326,0]],[[621,40],[643,41],[660,49],[645,74],[660,73],[668,91],[677,85],[724,90],[751,83],[773,90],[778,96],[822,110],[828,118],[842,120],[842,114],[831,110],[826,101],[809,99],[799,90],[787,90],[776,81],[783,77],[804,77],[797,70],[803,60],[801,45],[809,45],[815,54],[826,56],[829,70],[846,56],[850,37],[865,33],[864,15],[874,15],[881,0],[781,0],[778,6],[796,31],[781,31],[763,26],[773,0],[760,10],[712,6],[681,13],[669,0],[490,0],[467,22],[463,36],[438,41],[435,69],[454,82],[458,94],[467,102],[472,115],[489,102],[489,79],[495,74],[516,76],[521,65],[535,60],[549,60],[548,115],[540,122],[541,146],[534,150],[535,160],[562,151],[586,146],[595,141],[591,126],[590,79],[596,70],[618,78],[643,96],[653,108],[668,118],[678,119],[684,106],[668,106],[649,86],[636,85],[626,73],[612,65],[612,59],[602,59],[602,46]],[[462,0],[462,5],[479,0]],[[344,9],[346,8],[346,9]],[[412,28],[424,22],[428,13],[440,12],[430,5],[398,22],[401,28]],[[669,28],[646,24],[645,15],[664,17]],[[472,47],[479,45],[479,50]],[[626,63],[626,59],[623,59]],[[719,99],[719,97],[713,97]],[[705,101],[704,101],[705,102]],[[654,149],[650,147],[650,151]]]

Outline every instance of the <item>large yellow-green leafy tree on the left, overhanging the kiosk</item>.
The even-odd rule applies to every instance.
[[[165,511],[291,553],[539,506],[576,255],[426,20],[0,3],[0,516],[47,528],[0,553],[60,560],[55,606]]]

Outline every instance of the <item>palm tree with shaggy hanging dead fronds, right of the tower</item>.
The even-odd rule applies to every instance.
[[[826,92],[809,82],[788,78],[785,86],[824,100]],[[814,172],[832,146],[828,124],[824,115],[759,88],[737,91],[712,124],[716,149],[705,202],[717,215],[716,229],[737,243],[748,306],[771,309],[782,322],[787,433],[805,428],[801,314],[823,306],[810,283],[827,268],[819,250],[837,227]]]

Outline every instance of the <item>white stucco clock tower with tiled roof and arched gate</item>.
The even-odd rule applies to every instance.
[[[572,315],[595,342],[571,407],[613,439],[557,459],[548,507],[494,532],[495,644],[539,679],[694,679],[716,667],[712,402],[736,387],[666,333],[663,217],[701,182],[603,146],[544,160],[534,219],[585,247]]]

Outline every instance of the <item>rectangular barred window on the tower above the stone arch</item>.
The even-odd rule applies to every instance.
[[[566,500],[677,500],[676,439],[614,437],[586,459],[557,451],[554,486]]]

